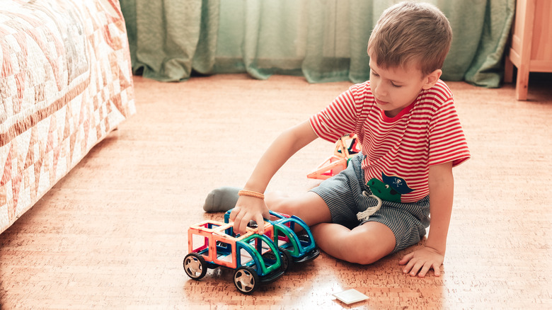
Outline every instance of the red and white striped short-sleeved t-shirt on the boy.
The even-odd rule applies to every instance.
[[[365,180],[402,183],[408,193],[401,195],[401,202],[429,194],[430,166],[449,161],[457,166],[470,158],[452,92],[441,80],[422,90],[396,117],[387,117],[376,106],[369,81],[355,84],[310,122],[318,137],[330,142],[357,134]]]

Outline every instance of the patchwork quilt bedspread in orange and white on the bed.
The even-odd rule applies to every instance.
[[[0,232],[134,114],[130,68],[117,0],[1,0]]]

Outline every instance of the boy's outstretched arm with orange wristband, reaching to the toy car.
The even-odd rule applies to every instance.
[[[265,193],[270,179],[278,169],[299,149],[317,137],[309,120],[282,132],[261,156],[243,189]],[[234,230],[240,234],[246,232],[246,226],[251,220],[263,223],[263,217],[268,218],[268,207],[265,205],[265,201],[250,196],[240,196],[236,207],[230,214],[231,221],[234,221]],[[261,224],[259,232],[260,234],[264,233],[264,227]]]

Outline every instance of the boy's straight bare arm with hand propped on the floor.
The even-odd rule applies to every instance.
[[[447,248],[454,195],[452,161],[430,166],[429,185],[431,224],[425,247],[407,254],[399,261],[401,265],[406,264],[404,273],[410,272],[410,275],[418,274],[420,277],[424,277],[430,268],[434,270],[435,275],[441,274],[439,267],[443,263]]]

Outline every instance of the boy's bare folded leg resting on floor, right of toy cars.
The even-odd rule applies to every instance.
[[[396,245],[388,226],[366,222],[354,229],[340,224],[321,223],[311,227],[316,245],[330,256],[367,265],[389,255]]]

